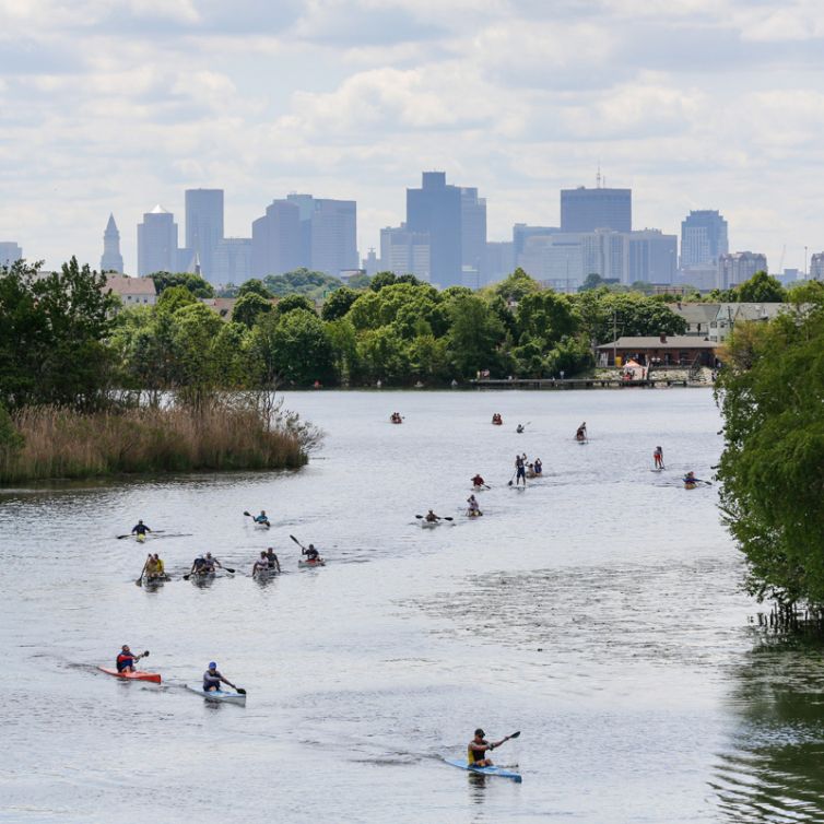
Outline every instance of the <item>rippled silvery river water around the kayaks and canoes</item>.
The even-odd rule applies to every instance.
[[[824,821],[821,654],[762,641],[715,487],[678,483],[717,462],[709,392],[287,405],[327,432],[297,473],[0,495],[0,820]],[[544,462],[525,492],[516,451]],[[428,507],[456,525],[422,530]],[[191,534],[115,539],[139,517]],[[329,565],[298,572],[290,533]],[[284,574],[259,585],[268,544]],[[156,591],[134,586],[150,549],[178,578]],[[179,580],[207,550],[244,575]],[[162,687],[95,670],[123,643]],[[180,688],[211,659],[245,708]],[[522,730],[495,755],[523,784],[442,763],[479,725]]]

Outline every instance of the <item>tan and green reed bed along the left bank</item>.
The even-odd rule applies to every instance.
[[[213,403],[84,414],[56,407],[15,412],[24,438],[0,449],[0,483],[118,473],[290,469],[307,461],[305,427],[254,405]],[[289,424],[289,422],[286,422]]]

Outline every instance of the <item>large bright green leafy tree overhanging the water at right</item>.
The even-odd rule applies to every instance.
[[[824,608],[824,302],[739,323],[717,399],[722,513],[752,595]]]

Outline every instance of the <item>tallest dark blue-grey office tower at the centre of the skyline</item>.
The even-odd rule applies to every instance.
[[[407,189],[407,229],[428,234],[432,283],[442,289],[462,280],[461,190],[445,172],[424,172],[420,189]]]

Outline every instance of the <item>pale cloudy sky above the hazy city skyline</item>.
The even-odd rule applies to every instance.
[[[0,0],[0,240],[99,264],[223,188],[226,234],[291,191],[357,200],[362,254],[421,172],[476,186],[488,239],[562,188],[634,228],[719,209],[772,271],[824,249],[822,0]]]

